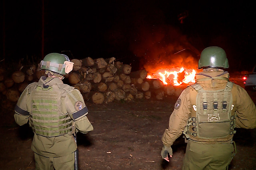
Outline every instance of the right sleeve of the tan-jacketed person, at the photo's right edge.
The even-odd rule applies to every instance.
[[[237,87],[236,127],[256,128],[256,107],[252,99],[240,86]]]

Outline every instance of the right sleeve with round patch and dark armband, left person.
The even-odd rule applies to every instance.
[[[70,117],[74,120],[76,129],[82,133],[93,130],[92,124],[87,118],[88,108],[79,90],[70,91],[65,98],[65,105]]]

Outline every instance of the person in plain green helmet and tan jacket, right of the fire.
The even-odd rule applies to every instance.
[[[184,133],[184,170],[226,170],[234,156],[232,137],[238,128],[256,128],[256,107],[240,86],[229,81],[228,59],[220,47],[200,55],[196,83],[180,94],[162,136],[161,156],[169,161],[174,141]]]

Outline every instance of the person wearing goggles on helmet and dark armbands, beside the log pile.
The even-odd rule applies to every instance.
[[[74,169],[77,145],[72,134],[93,130],[81,93],[62,82],[73,64],[66,55],[46,55],[41,61],[41,70],[45,70],[47,77],[29,84],[15,107],[16,123],[29,122],[34,131],[31,148],[36,169]]]

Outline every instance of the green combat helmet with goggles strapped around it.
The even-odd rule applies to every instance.
[[[50,53],[44,57],[40,63],[40,70],[49,70],[64,76],[73,69],[73,62],[70,62],[68,56],[59,53]]]

